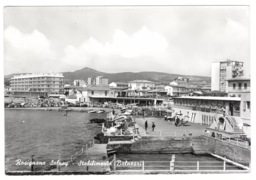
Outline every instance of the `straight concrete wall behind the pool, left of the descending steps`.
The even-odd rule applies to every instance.
[[[143,136],[132,144],[130,152],[192,152],[192,136]]]

